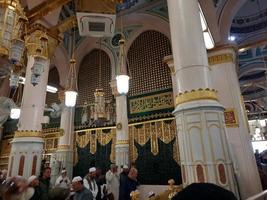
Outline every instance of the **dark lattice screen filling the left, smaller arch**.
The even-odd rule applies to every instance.
[[[94,102],[94,91],[98,87],[99,80],[99,50],[92,50],[82,61],[78,74],[78,105],[84,102]],[[101,51],[101,84],[105,92],[105,99],[112,99],[109,85],[111,81],[111,64],[108,55]]]

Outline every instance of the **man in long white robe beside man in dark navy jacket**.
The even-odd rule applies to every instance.
[[[106,173],[107,189],[112,193],[114,200],[119,199],[120,176],[118,174],[118,166],[112,164],[110,170]]]

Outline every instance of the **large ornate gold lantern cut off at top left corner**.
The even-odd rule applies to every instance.
[[[19,54],[15,56],[15,51],[24,49],[24,45],[18,42],[18,36],[22,32],[22,24],[27,18],[23,12],[19,0],[0,0],[0,55],[10,57],[15,61],[20,60]],[[13,44],[19,46],[20,49],[12,47],[12,40],[16,39]],[[22,54],[21,54],[22,55]]]

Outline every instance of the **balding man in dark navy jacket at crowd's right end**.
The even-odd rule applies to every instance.
[[[131,168],[128,176],[125,179],[122,179],[120,183],[120,192],[119,200],[130,200],[130,193],[135,191],[138,185],[136,180],[137,178],[137,169]]]

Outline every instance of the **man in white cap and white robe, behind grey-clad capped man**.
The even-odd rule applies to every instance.
[[[96,200],[96,196],[98,193],[98,186],[96,184],[96,168],[91,167],[89,169],[89,173],[84,177],[83,184],[88,190],[90,190],[93,194],[93,200]]]

